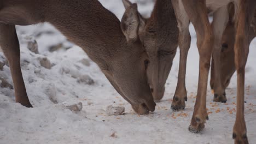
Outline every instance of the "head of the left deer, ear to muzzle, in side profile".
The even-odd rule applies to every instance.
[[[138,36],[139,17],[137,5],[131,4],[121,20],[124,39],[120,51],[102,69],[115,89],[127,100],[133,110],[146,114],[155,110],[155,103],[147,79],[149,57]]]

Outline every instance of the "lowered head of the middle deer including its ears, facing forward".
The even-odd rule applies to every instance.
[[[123,0],[123,3],[126,10],[132,5],[128,0]],[[165,27],[159,26],[161,22],[155,18],[157,17],[146,20],[138,13],[138,33],[139,40],[148,54],[147,77],[150,91],[154,100],[160,100],[164,96],[165,82],[176,55],[178,28],[176,23],[173,28],[169,23]]]

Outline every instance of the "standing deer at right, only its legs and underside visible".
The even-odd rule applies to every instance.
[[[244,116],[244,97],[245,97],[245,65],[249,49],[249,30],[253,20],[256,1],[236,0],[236,1],[211,1],[211,0],[172,0],[174,11],[176,13],[179,32],[189,35],[189,21],[194,25],[197,36],[197,48],[200,56],[199,84],[197,89],[196,102],[193,116],[189,125],[189,131],[198,133],[205,128],[205,122],[208,119],[206,110],[206,89],[208,73],[210,70],[211,56],[214,61],[214,101],[226,102],[223,87],[221,86],[220,74],[220,52],[221,38],[229,20],[228,4],[235,4],[235,22],[236,36],[234,44],[235,68],[237,71],[237,112],[236,121],[233,128],[232,137],[235,143],[248,143],[246,134],[246,123]],[[208,20],[208,12],[213,12],[213,22]],[[183,35],[183,37],[185,37]],[[190,41],[184,41],[188,45]],[[180,46],[180,49],[183,49]],[[188,50],[189,48],[185,49]],[[184,67],[184,65],[183,65]],[[220,92],[220,93],[219,93]],[[179,95],[174,95],[178,97]],[[179,96],[181,97],[181,96]],[[183,100],[184,97],[181,97]],[[175,98],[174,98],[175,100]],[[174,105],[174,106],[173,106]],[[183,106],[173,101],[174,109],[181,109]],[[177,108],[178,107],[178,108]]]

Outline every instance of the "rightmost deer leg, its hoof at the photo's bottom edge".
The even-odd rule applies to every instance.
[[[245,123],[245,66],[249,53],[249,28],[253,19],[256,1],[238,2],[238,19],[235,41],[235,66],[237,73],[237,110],[233,129],[235,143],[248,143]]]

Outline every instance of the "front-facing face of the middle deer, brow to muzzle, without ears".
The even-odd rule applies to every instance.
[[[140,33],[140,38],[149,56],[147,77],[150,90],[154,100],[161,100],[176,55],[177,43],[172,43],[173,39],[168,40],[166,35],[161,35],[161,31],[152,31],[152,28],[148,27]]]

